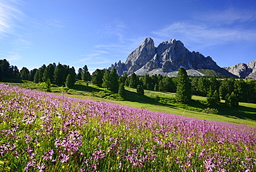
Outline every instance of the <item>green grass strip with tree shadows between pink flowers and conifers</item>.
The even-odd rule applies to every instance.
[[[27,82],[15,85],[46,91],[44,83],[34,84]],[[145,95],[140,95],[136,93],[136,89],[126,87],[125,90],[126,96],[125,98],[121,98],[118,94],[113,94],[107,89],[95,85],[88,85],[81,81],[77,82],[73,89],[67,89],[66,87],[51,87],[51,91],[55,94],[66,94],[66,96],[75,98],[117,103],[119,105],[145,108],[156,112],[179,114],[184,117],[195,119],[256,126],[255,103],[239,103],[239,107],[228,108],[224,105],[224,101],[221,101],[217,108],[217,114],[212,114],[212,109],[209,110],[208,105],[205,103],[206,98],[202,96],[192,96],[192,102],[188,105],[183,105],[176,103],[175,93],[145,90]]]

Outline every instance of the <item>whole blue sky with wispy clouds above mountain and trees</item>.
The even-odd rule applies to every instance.
[[[125,62],[146,37],[181,40],[220,67],[256,60],[252,0],[0,0],[0,59],[89,71]]]

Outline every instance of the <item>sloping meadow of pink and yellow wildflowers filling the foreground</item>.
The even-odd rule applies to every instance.
[[[256,171],[256,128],[0,84],[0,171]]]

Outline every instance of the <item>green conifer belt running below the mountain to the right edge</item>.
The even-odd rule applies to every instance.
[[[137,76],[131,74],[118,76],[116,69],[112,71],[96,69],[91,82],[99,87],[111,89],[118,92],[118,85],[135,88],[140,94],[144,94],[143,89],[152,89],[163,92],[176,92],[176,100],[180,103],[188,103],[192,94],[206,96],[210,106],[216,107],[221,99],[226,101],[226,105],[234,107],[238,102],[256,103],[256,82],[255,80],[244,80],[242,78],[206,78],[189,77],[184,68],[180,68],[177,77],[161,75]]]

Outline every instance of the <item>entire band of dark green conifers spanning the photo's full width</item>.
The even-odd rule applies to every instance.
[[[79,68],[77,74],[74,67],[62,65],[60,62],[42,65],[39,69],[29,71],[23,67],[21,71],[4,59],[0,60],[0,81],[11,78],[14,80],[30,80],[34,83],[46,83],[48,90],[51,85],[73,87],[76,80],[90,81],[93,85],[110,89],[114,93],[125,97],[125,86],[137,89],[139,94],[144,94],[144,89],[163,92],[176,92],[176,101],[188,103],[192,94],[206,96],[210,106],[215,107],[220,99],[226,101],[226,105],[237,106],[238,102],[256,103],[255,80],[235,78],[194,78],[189,77],[184,68],[180,68],[177,77],[161,75],[137,76],[135,73],[127,76],[119,76],[116,69],[96,69],[90,74],[86,65]]]

